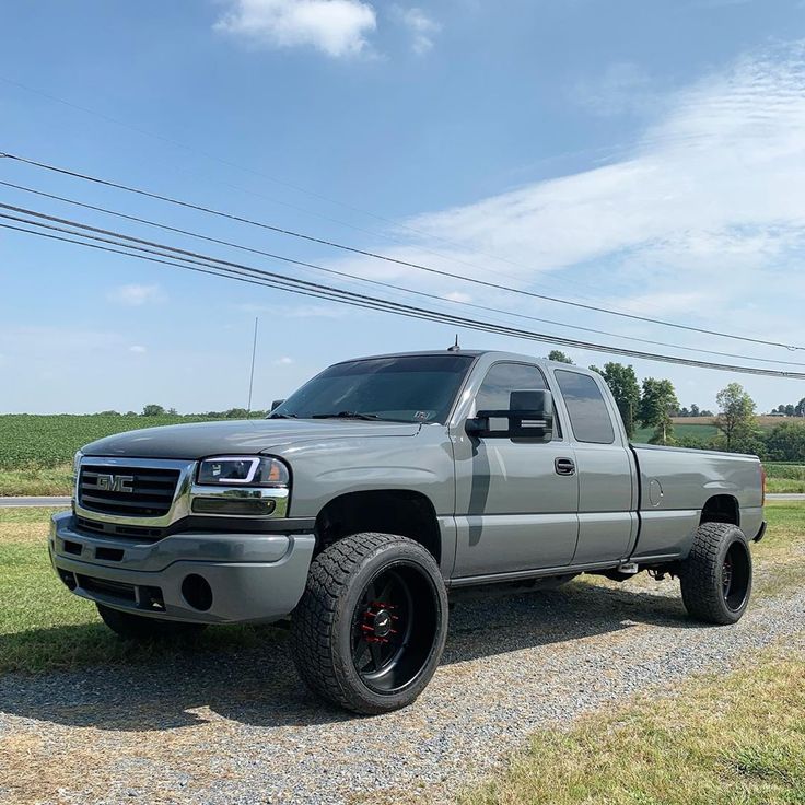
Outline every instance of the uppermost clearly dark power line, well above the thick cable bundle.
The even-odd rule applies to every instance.
[[[418,269],[418,270],[421,270],[421,271],[428,271],[430,273],[439,275],[439,276],[442,276],[442,277],[450,277],[452,279],[456,279],[456,280],[459,280],[462,282],[471,282],[474,284],[483,285],[486,288],[493,288],[495,290],[505,291],[508,293],[517,293],[517,294],[522,294],[522,295],[525,295],[525,296],[530,296],[530,298],[534,298],[534,299],[540,299],[540,300],[544,300],[544,301],[547,301],[547,302],[556,302],[558,304],[570,305],[572,307],[580,307],[580,308],[583,308],[583,310],[586,310],[586,311],[593,311],[595,313],[603,313],[603,314],[606,314],[606,315],[619,316],[621,318],[629,318],[629,319],[633,319],[633,320],[638,320],[638,322],[646,322],[649,324],[661,325],[663,327],[673,327],[673,328],[676,328],[676,329],[688,330],[688,331],[691,331],[691,332],[701,332],[703,335],[718,336],[720,338],[731,338],[731,339],[735,339],[735,340],[738,340],[738,341],[746,341],[746,342],[750,342],[750,343],[761,343],[761,345],[769,346],[769,347],[783,347],[783,348],[789,349],[789,350],[805,350],[805,346],[788,345],[788,343],[782,343],[780,341],[769,341],[769,340],[765,340],[765,339],[760,339],[760,338],[751,338],[750,336],[739,336],[739,335],[736,335],[736,334],[721,332],[719,330],[710,330],[710,329],[705,329],[705,328],[701,328],[701,327],[693,327],[691,325],[684,325],[684,324],[679,324],[679,323],[676,323],[676,322],[666,322],[664,319],[652,318],[650,316],[640,316],[640,315],[634,314],[634,313],[626,313],[623,311],[615,311],[615,310],[611,310],[611,308],[603,307],[600,305],[588,305],[588,304],[584,304],[582,302],[573,302],[571,300],[561,299],[559,296],[549,296],[547,294],[536,293],[534,291],[526,291],[526,290],[520,289],[520,288],[511,288],[509,285],[503,285],[503,284],[500,284],[500,283],[497,283],[497,282],[489,282],[487,280],[477,279],[475,277],[463,277],[460,275],[452,273],[451,271],[444,271],[442,269],[433,268],[431,266],[424,266],[424,265],[419,264],[419,262],[412,262],[412,261],[409,261],[409,260],[402,260],[402,259],[399,259],[399,258],[396,258],[396,257],[390,257],[389,255],[383,255],[383,254],[380,254],[380,253],[376,253],[376,252],[369,252],[366,249],[357,248],[354,246],[347,246],[345,244],[337,243],[335,241],[328,241],[326,238],[316,237],[314,235],[307,235],[307,234],[304,234],[304,233],[301,233],[301,232],[295,232],[294,230],[288,230],[288,229],[283,229],[281,226],[275,226],[272,224],[262,223],[260,221],[254,221],[252,219],[244,218],[242,215],[236,215],[236,214],[230,213],[230,212],[223,212],[221,210],[214,210],[214,209],[211,209],[209,207],[203,207],[201,205],[192,203],[190,201],[183,201],[180,199],[172,198],[170,196],[163,196],[163,195],[158,194],[158,192],[151,192],[149,190],[143,190],[143,189],[140,189],[140,188],[137,188],[137,187],[130,187],[128,185],[124,185],[124,184],[120,184],[120,183],[117,183],[117,182],[112,182],[109,179],[103,179],[103,178],[100,178],[97,176],[91,176],[89,174],[82,174],[82,173],[79,173],[77,171],[71,171],[71,170],[68,170],[68,168],[58,167],[56,165],[50,165],[50,164],[45,163],[45,162],[38,162],[36,160],[31,160],[31,159],[27,159],[27,158],[24,158],[24,156],[19,156],[19,155],[7,153],[7,152],[0,152],[0,159],[3,159],[3,158],[4,159],[9,159],[9,160],[14,160],[16,162],[21,162],[21,163],[24,163],[24,164],[27,164],[27,165],[32,165],[34,167],[39,167],[39,168],[43,168],[45,171],[50,171],[50,172],[58,173],[58,174],[61,174],[61,175],[65,175],[65,176],[70,176],[72,178],[79,178],[79,179],[82,179],[82,180],[85,180],[85,182],[91,182],[91,183],[94,183],[94,184],[97,184],[97,185],[102,185],[102,186],[106,186],[106,187],[112,187],[112,188],[115,188],[115,189],[118,189],[118,190],[124,190],[126,192],[132,192],[132,194],[136,194],[138,196],[143,196],[143,197],[147,197],[147,198],[156,199],[159,201],[165,201],[167,203],[176,205],[178,207],[184,207],[186,209],[196,210],[197,212],[203,212],[206,214],[217,215],[219,218],[229,219],[231,221],[236,221],[238,223],[244,223],[244,224],[247,224],[247,225],[250,225],[250,226],[258,226],[258,228],[264,229],[264,230],[276,232],[277,234],[288,235],[288,236],[291,236],[291,237],[301,238],[301,240],[304,240],[304,241],[307,241],[307,242],[311,242],[311,243],[316,243],[316,244],[328,246],[328,247],[331,247],[331,248],[337,248],[337,249],[340,249],[342,252],[348,252],[348,253],[351,253],[351,254],[358,254],[358,255],[361,255],[363,257],[370,257],[370,258],[373,258],[373,259],[385,260],[387,262],[394,262],[394,264],[397,264],[397,265],[400,265],[400,266],[406,266],[408,268],[415,268],[415,269]]]

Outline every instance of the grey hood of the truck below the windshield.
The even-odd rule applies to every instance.
[[[197,459],[214,455],[254,455],[294,442],[413,436],[420,427],[351,419],[236,419],[128,431],[92,442],[81,452],[88,456]]]

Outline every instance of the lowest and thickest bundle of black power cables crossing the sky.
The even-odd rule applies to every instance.
[[[8,213],[0,213],[0,217],[5,219],[12,219],[20,221],[21,219],[12,217]],[[697,361],[687,358],[678,358],[676,355],[664,355],[651,352],[642,352],[639,350],[625,349],[619,347],[611,347],[609,345],[599,345],[587,341],[580,341],[578,339],[558,337],[546,335],[541,332],[535,332],[530,330],[523,330],[514,327],[508,327],[497,325],[494,323],[483,322],[480,319],[467,318],[464,316],[455,316],[453,314],[443,313],[440,311],[431,311],[428,308],[417,307],[413,305],[407,305],[390,300],[378,299],[375,296],[369,296],[365,294],[359,294],[352,291],[343,289],[332,288],[324,285],[322,283],[308,282],[306,280],[300,280],[296,278],[288,277],[272,271],[266,271],[262,269],[256,269],[249,266],[243,266],[229,260],[221,260],[215,257],[208,255],[197,255],[196,253],[189,253],[185,249],[177,249],[175,247],[165,244],[155,244],[158,249],[148,248],[144,246],[137,245],[140,238],[135,238],[129,235],[116,233],[118,237],[131,241],[131,243],[120,243],[119,241],[112,241],[100,235],[91,235],[83,232],[75,232],[65,230],[63,228],[55,224],[43,223],[40,221],[23,221],[26,225],[33,225],[37,228],[44,228],[51,231],[59,231],[63,234],[54,235],[50,232],[37,232],[35,230],[27,230],[13,224],[0,223],[0,226],[4,229],[16,230],[26,234],[35,234],[51,240],[63,241],[81,246],[90,246],[105,252],[115,252],[117,254],[124,254],[129,257],[136,257],[152,262],[162,262],[165,265],[172,265],[177,268],[185,268],[189,270],[200,271],[201,273],[211,273],[213,276],[225,277],[226,279],[237,279],[253,284],[262,284],[279,290],[290,291],[292,293],[301,293],[302,295],[317,296],[319,299],[328,299],[329,301],[341,302],[358,307],[368,307],[372,310],[382,311],[385,313],[394,313],[396,315],[406,316],[410,318],[419,318],[435,323],[458,325],[459,327],[467,327],[469,329],[493,332],[497,335],[511,336],[514,338],[521,338],[532,341],[540,341],[544,343],[561,345],[567,347],[575,347],[579,349],[586,349],[597,352],[606,352],[609,354],[628,355],[631,358],[640,358],[645,360],[662,361],[665,363],[675,363],[679,365],[697,366],[700,369],[714,369],[720,371],[738,372],[744,374],[756,374],[766,375],[772,377],[788,377],[795,380],[805,380],[805,373],[800,372],[785,372],[770,369],[762,369],[758,366],[737,366],[723,363],[713,363],[708,361]],[[84,224],[74,222],[73,225],[84,228]],[[93,228],[86,226],[85,229],[91,230]],[[66,234],[70,237],[65,236]],[[73,240],[74,237],[92,240],[102,242],[98,243],[85,243],[84,240]],[[108,243],[114,243],[118,248],[109,247]],[[127,250],[122,250],[127,249]],[[161,249],[161,250],[160,250]],[[132,254],[133,253],[133,254]],[[147,254],[138,254],[147,253]],[[159,255],[159,256],[156,256]],[[185,256],[185,255],[194,255]],[[200,258],[200,259],[196,259]],[[206,262],[205,262],[206,260]],[[185,265],[191,264],[191,265]],[[195,264],[195,265],[192,265]],[[202,268],[203,267],[203,268]]]

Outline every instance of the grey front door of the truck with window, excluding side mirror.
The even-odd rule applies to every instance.
[[[546,389],[534,364],[492,364],[469,410],[508,409],[515,390]],[[574,453],[555,416],[553,440],[475,439],[453,433],[456,466],[454,578],[569,564],[579,532]]]

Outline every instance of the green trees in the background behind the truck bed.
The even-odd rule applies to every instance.
[[[560,350],[552,350],[548,359],[573,363]],[[590,369],[600,374],[609,386],[629,439],[634,436],[637,425],[641,424],[652,429],[651,444],[751,453],[766,460],[777,462],[801,460],[805,457],[805,422],[781,422],[768,430],[760,428],[755,400],[739,383],[730,383],[719,392],[715,396],[719,412],[713,415],[711,411],[700,411],[696,405],[690,409],[680,409],[674,384],[667,378],[645,377],[641,385],[631,365],[610,362],[605,363],[603,369],[594,365]],[[794,410],[797,407],[805,411],[805,398],[797,406],[792,406]],[[710,439],[687,434],[676,436],[673,418],[685,416],[680,413],[681,410],[688,410],[689,417],[712,416],[718,435]],[[693,410],[697,413],[692,413]],[[783,412],[786,410],[783,407]]]

